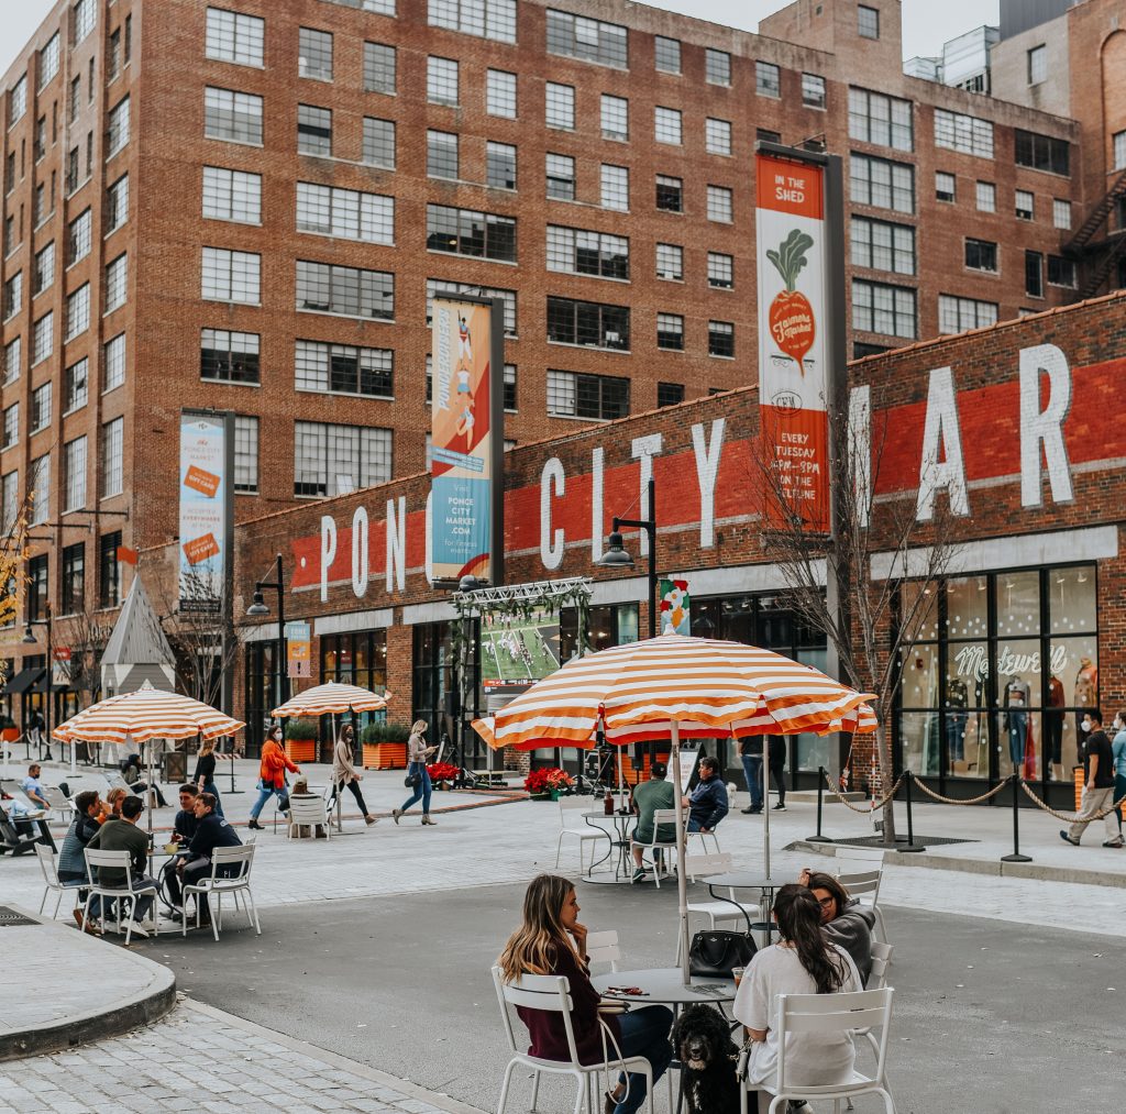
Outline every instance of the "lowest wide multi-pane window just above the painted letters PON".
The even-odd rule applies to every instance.
[[[336,496],[391,479],[390,429],[298,421],[294,429],[293,493]]]

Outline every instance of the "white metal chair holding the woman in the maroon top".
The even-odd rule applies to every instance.
[[[526,974],[517,982],[504,982],[499,966],[492,969],[493,984],[497,988],[497,1000],[500,1004],[500,1014],[504,1023],[504,1035],[508,1037],[508,1046],[511,1058],[504,1068],[504,1080],[500,1088],[500,1098],[497,1103],[497,1114],[504,1114],[508,1104],[509,1086],[512,1081],[512,1072],[517,1067],[531,1069],[531,1103],[529,1111],[536,1108],[536,1098],[539,1095],[539,1077],[543,1072],[572,1076],[575,1080],[574,1114],[582,1114],[583,1107],[587,1114],[592,1114],[591,1107],[591,1080],[597,1079],[599,1073],[606,1075],[606,1089],[613,1086],[610,1072],[615,1075],[620,1071],[635,1072],[645,1077],[645,1094],[649,1103],[649,1114],[655,1114],[656,1107],[653,1105],[653,1069],[644,1057],[623,1058],[618,1049],[614,1034],[605,1022],[599,1022],[602,1034],[602,1062],[580,1063],[579,1051],[574,1043],[574,1028],[571,1025],[571,1000],[570,983],[563,975],[553,974]],[[521,1052],[516,1042],[516,1031],[512,1027],[512,1015],[510,1007],[522,1006],[525,1009],[539,1009],[545,1013],[560,1014],[563,1021],[563,1030],[566,1033],[569,1060],[544,1060],[539,1057]],[[613,1059],[610,1055],[613,1048]],[[615,1080],[616,1081],[616,1080]]]

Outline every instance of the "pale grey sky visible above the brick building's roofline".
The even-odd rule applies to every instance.
[[[785,7],[784,0],[651,0],[654,7],[680,11],[744,30]],[[0,0],[3,9],[3,46],[0,73],[8,69],[55,0]],[[982,24],[998,21],[998,0],[903,0],[903,56],[937,54],[948,38]]]

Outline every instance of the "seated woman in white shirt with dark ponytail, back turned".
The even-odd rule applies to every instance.
[[[781,941],[756,953],[732,1007],[754,1042],[747,1077],[751,1086],[777,1084],[775,1026],[779,995],[848,993],[861,989],[859,972],[848,952],[829,943],[822,934],[821,908],[810,890],[793,883],[784,885],[775,897],[774,918]],[[847,1082],[852,1078],[855,1060],[856,1050],[847,1033],[792,1033],[786,1037],[787,1077],[792,1084],[822,1087]],[[768,1106],[769,1098],[762,1091],[759,1109]]]

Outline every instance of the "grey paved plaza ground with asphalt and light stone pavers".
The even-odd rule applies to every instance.
[[[324,767],[309,773],[323,781]],[[251,777],[240,763],[239,784],[249,787]],[[405,795],[397,772],[369,773],[363,787],[379,813]],[[251,800],[227,795],[229,814],[240,821]],[[283,1091],[286,1108],[300,1111],[494,1108],[504,1057],[489,965],[518,919],[524,883],[554,866],[558,811],[435,795],[436,809],[465,804],[482,806],[436,812],[429,829],[417,818],[364,828],[352,808],[346,834],[331,841],[260,834],[254,892],[263,935],[232,919],[218,944],[202,934],[137,943],[131,951],[171,969],[186,999],[127,1036],[0,1064],[0,1114],[101,1108],[83,1103],[91,1087],[120,1094],[114,1066],[123,1054],[140,1081],[126,1108],[137,1111],[269,1108],[269,1096]],[[814,806],[792,803],[771,819],[772,873],[795,875],[813,852],[785,848],[813,831]],[[158,828],[170,820],[171,810],[158,811]],[[1058,827],[1022,812],[1022,849],[1052,877],[1000,877],[997,861],[1011,849],[1009,810],[917,808],[918,834],[976,841],[931,848],[947,868],[901,856],[885,872],[899,1111],[1103,1109],[1116,1100],[1117,1027],[1107,1018],[1123,989],[1115,970],[1126,853],[1101,848],[1093,829],[1082,848],[1070,847]],[[834,804],[825,831],[867,835],[870,821]],[[721,837],[738,865],[761,866],[761,818],[735,812]],[[959,866],[969,870],[949,868]],[[575,873],[573,849],[561,870]],[[1103,884],[1057,880],[1075,870]],[[0,859],[3,902],[36,909],[38,879],[34,859]],[[582,919],[618,929],[626,965],[671,962],[674,888],[579,890]],[[10,970],[6,977],[21,982]],[[280,1071],[286,1057],[296,1059]],[[197,1093],[200,1080],[215,1086]],[[951,1090],[953,1080],[965,1094]],[[517,1097],[526,1102],[526,1093]],[[539,1105],[569,1108],[551,1089]]]

